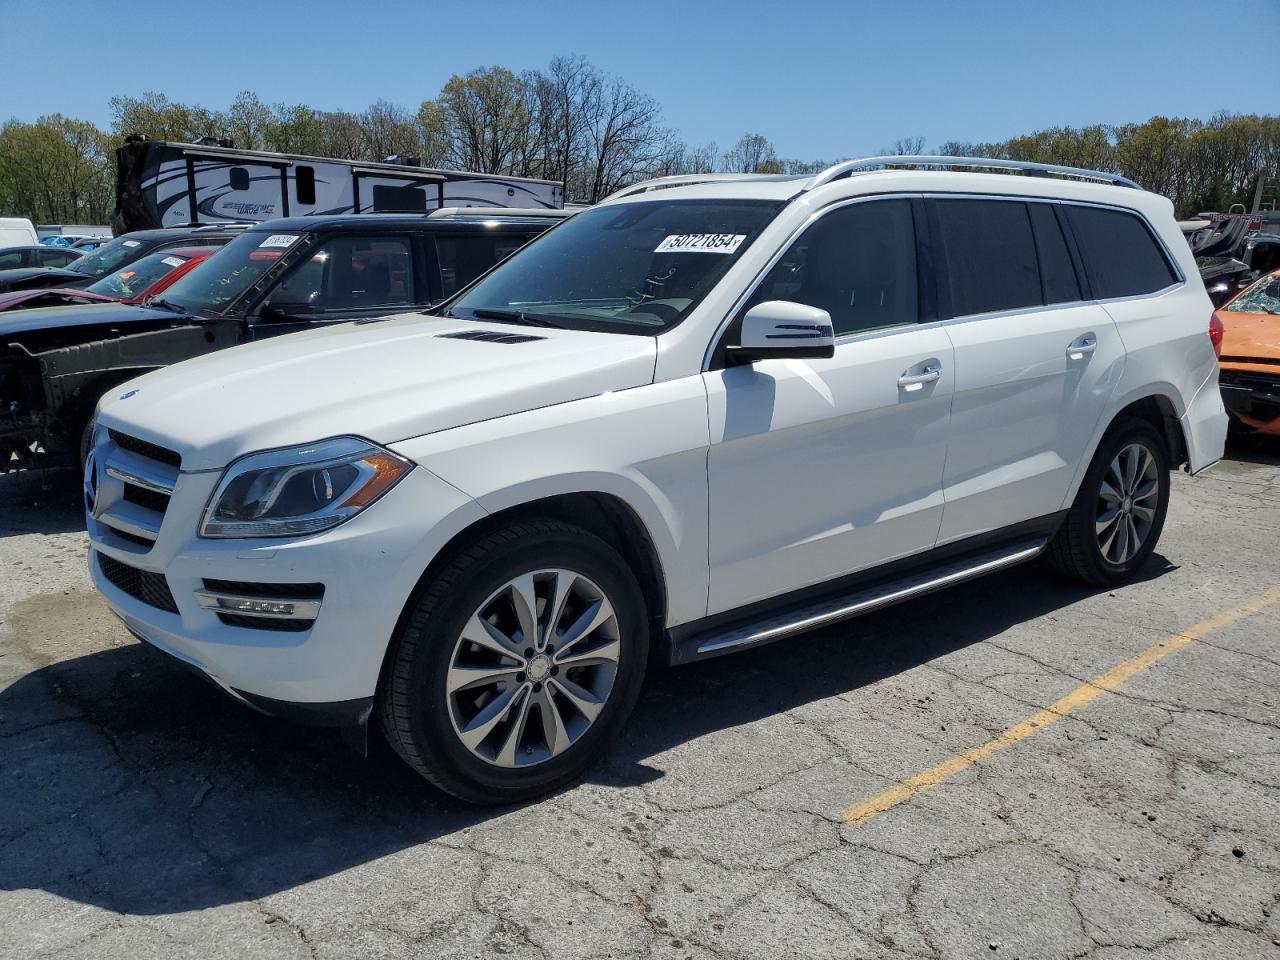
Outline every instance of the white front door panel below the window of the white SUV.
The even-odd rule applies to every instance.
[[[933,383],[899,378],[938,367]],[[829,360],[703,375],[710,613],[933,547],[955,385],[938,328],[840,342]]]

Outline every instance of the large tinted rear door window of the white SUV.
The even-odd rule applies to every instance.
[[[1027,204],[937,200],[933,210],[947,264],[952,316],[1042,303]]]

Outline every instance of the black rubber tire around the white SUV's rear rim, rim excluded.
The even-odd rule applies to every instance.
[[[1158,484],[1155,517],[1138,550],[1123,562],[1103,554],[1096,524],[1102,506],[1102,483],[1116,456],[1130,444],[1139,444],[1155,460]],[[1066,520],[1050,544],[1050,559],[1059,571],[1092,586],[1117,586],[1133,579],[1156,549],[1169,511],[1169,452],[1165,439],[1146,420],[1121,417],[1111,425],[1098,444],[1093,462],[1080,483],[1080,490]]]

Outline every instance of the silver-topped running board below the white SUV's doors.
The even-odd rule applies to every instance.
[[[870,613],[902,600],[910,600],[914,596],[923,596],[934,590],[1025,563],[1043,553],[1047,545],[1048,539],[1043,536],[1019,540],[1000,549],[970,553],[937,566],[915,570],[911,573],[864,586],[852,593],[827,596],[780,613],[767,614],[748,623],[740,621],[735,626],[698,637],[694,641],[696,644],[694,657],[690,659],[768,644],[795,634],[838,623],[863,613]]]

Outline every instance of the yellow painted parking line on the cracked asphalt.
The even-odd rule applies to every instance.
[[[1019,740],[1025,740],[1036,731],[1043,730],[1052,723],[1057,723],[1064,717],[1069,717],[1076,710],[1088,707],[1091,703],[1102,696],[1102,694],[1126,684],[1148,667],[1153,667],[1160,663],[1162,659],[1169,657],[1169,654],[1176,653],[1188,644],[1193,644],[1216,630],[1230,626],[1235,621],[1263,611],[1276,603],[1280,603],[1280,585],[1272,586],[1270,590],[1245,600],[1239,607],[1224,611],[1222,613],[1210,617],[1208,620],[1201,621],[1193,627],[1188,627],[1181,632],[1161,640],[1153,646],[1148,646],[1137,657],[1132,657],[1124,663],[1112,667],[1101,677],[1080,684],[1080,686],[1075,687],[1075,690],[1069,692],[1061,700],[1046,707],[1039,713],[1028,717],[1021,723],[1015,723],[995,740],[988,740],[986,744],[979,744],[978,746],[973,746],[963,753],[955,754],[954,756],[950,756],[940,763],[937,767],[922,771],[914,777],[909,777],[908,780],[895,783],[888,790],[881,791],[876,796],[854,804],[845,810],[844,814],[841,814],[841,818],[850,826],[865,823],[872,817],[884,813],[886,810],[891,810],[899,804],[906,803],[916,794],[932,790],[961,771],[973,767],[975,763],[986,760],[992,754],[998,754],[1001,750],[1012,746]]]

